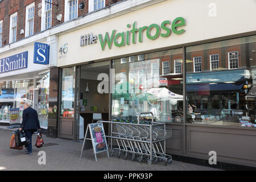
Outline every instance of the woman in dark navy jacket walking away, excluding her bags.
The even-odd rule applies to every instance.
[[[30,139],[30,144],[26,147],[27,155],[32,155],[32,134],[36,130],[40,130],[40,124],[38,120],[38,113],[35,109],[32,109],[31,105],[26,102],[24,104],[24,110],[22,114],[22,126],[19,130],[24,130],[27,138]]]

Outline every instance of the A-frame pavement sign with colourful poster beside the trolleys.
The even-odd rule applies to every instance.
[[[89,133],[90,132],[90,133]],[[86,142],[86,140],[91,140],[91,142]],[[82,143],[82,150],[80,158],[82,157],[82,152],[93,148],[93,154],[97,162],[97,153],[107,152],[109,158],[108,145],[106,143],[106,137],[104,132],[104,127],[102,123],[91,123],[87,125],[84,142]]]

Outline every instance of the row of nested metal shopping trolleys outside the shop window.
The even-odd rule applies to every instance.
[[[112,121],[98,121],[110,123],[110,156],[114,156],[118,151],[117,157],[127,159],[130,155],[131,160],[139,163],[146,161],[151,163],[172,163],[172,156],[166,154],[166,140],[172,137],[171,128],[165,123],[127,123]]]

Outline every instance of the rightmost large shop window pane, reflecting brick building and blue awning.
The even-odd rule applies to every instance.
[[[187,122],[223,126],[255,124],[255,38],[187,47]],[[192,57],[198,54],[202,72],[195,73]]]

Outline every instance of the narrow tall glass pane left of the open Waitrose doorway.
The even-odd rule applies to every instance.
[[[75,67],[63,68],[61,75],[61,117],[74,117]]]

